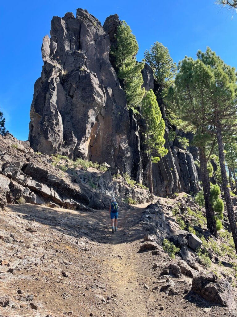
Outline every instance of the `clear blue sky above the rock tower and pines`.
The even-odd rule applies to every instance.
[[[76,15],[87,9],[103,24],[117,13],[137,38],[137,60],[155,41],[167,46],[175,62],[198,49],[210,48],[237,68],[237,14],[221,9],[215,0],[149,1],[4,1],[0,6],[0,108],[6,128],[28,139],[29,111],[34,82],[42,70],[42,38],[49,34],[52,16]]]

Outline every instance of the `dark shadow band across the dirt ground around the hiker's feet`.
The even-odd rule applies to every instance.
[[[114,234],[111,232],[110,214],[107,210],[87,213],[32,204],[9,204],[6,209],[21,215],[23,219],[41,223],[69,236],[86,236],[99,243],[132,243],[143,239],[144,236],[144,230],[139,222],[144,208],[120,211],[118,231]]]

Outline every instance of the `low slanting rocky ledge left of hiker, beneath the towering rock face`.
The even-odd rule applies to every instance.
[[[132,209],[123,204],[124,198],[140,203],[150,198],[148,190],[139,185],[131,188],[125,180],[113,179],[111,167],[99,174],[79,168],[63,172],[52,163],[50,156],[34,153],[29,142],[0,135],[0,208],[27,202],[95,211],[107,209],[115,195],[121,208]]]

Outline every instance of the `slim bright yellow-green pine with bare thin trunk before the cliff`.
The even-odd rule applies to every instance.
[[[168,150],[164,147],[165,122],[161,118],[161,111],[152,89],[143,97],[141,111],[146,121],[145,144],[149,159],[150,192],[153,198],[152,163],[159,162],[160,157],[166,155]],[[156,156],[152,156],[152,153],[156,153]]]

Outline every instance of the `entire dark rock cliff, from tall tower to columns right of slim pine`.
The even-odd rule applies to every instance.
[[[42,44],[44,65],[34,86],[29,141],[36,152],[61,153],[106,162],[148,185],[148,157],[143,145],[143,121],[126,107],[116,76],[110,45],[116,46],[121,24],[109,16],[103,27],[87,10],[63,18],[54,16]],[[149,65],[142,71],[143,87],[154,90]],[[168,154],[153,164],[154,193],[197,192],[193,156],[168,141]]]

